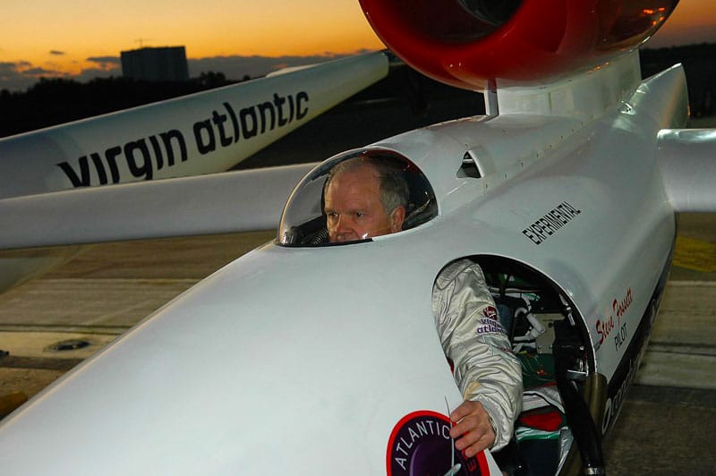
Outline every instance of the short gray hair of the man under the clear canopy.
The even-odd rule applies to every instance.
[[[360,156],[353,157],[339,163],[328,173],[326,183],[323,185],[323,193],[328,191],[328,185],[340,174],[354,172],[362,166],[370,166],[375,170],[380,183],[380,203],[383,210],[390,214],[398,207],[407,208],[410,191],[405,181],[403,172],[392,164],[381,162],[374,157]]]

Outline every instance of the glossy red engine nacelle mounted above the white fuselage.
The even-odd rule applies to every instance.
[[[637,47],[678,0],[360,0],[405,63],[464,89],[529,85]]]

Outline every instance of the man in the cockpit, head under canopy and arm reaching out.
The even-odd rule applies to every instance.
[[[371,157],[338,164],[324,185],[328,240],[350,242],[402,230],[408,186],[400,170]],[[450,413],[450,436],[467,457],[512,438],[522,406],[522,370],[499,324],[482,269],[459,259],[432,290],[440,343],[465,402]]]

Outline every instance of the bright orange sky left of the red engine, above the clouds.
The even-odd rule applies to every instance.
[[[357,0],[4,0],[2,12],[0,62],[72,72],[141,46],[189,58],[382,47]]]

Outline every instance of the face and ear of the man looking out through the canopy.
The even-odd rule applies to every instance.
[[[373,167],[361,166],[338,174],[326,191],[328,240],[352,242],[400,231],[405,208],[386,213]]]

